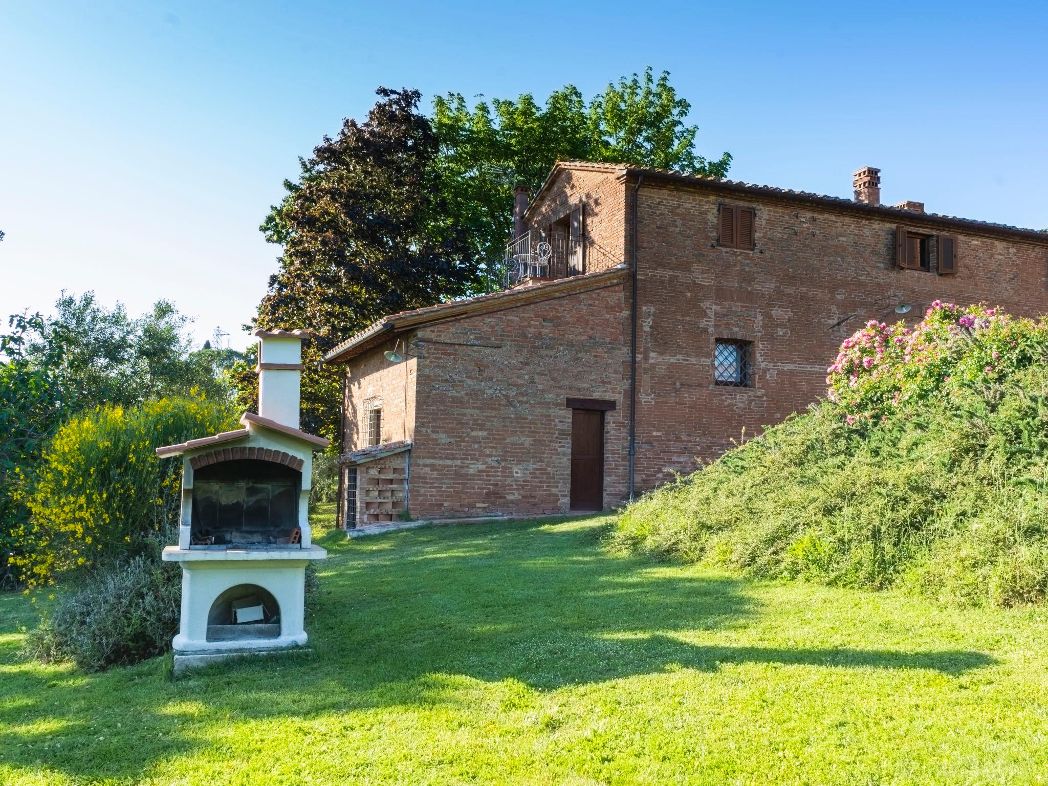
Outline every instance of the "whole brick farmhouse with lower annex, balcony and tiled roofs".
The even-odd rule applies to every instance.
[[[509,288],[326,356],[347,370],[341,522],[610,509],[804,410],[868,320],[1048,310],[1048,234],[882,205],[879,184],[558,163],[518,189]]]

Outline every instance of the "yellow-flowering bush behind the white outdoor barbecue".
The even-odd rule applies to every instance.
[[[225,405],[160,398],[99,407],[72,418],[47,444],[26,495],[28,522],[12,531],[12,563],[27,587],[65,571],[143,551],[177,527],[181,460],[155,449],[235,425]]]

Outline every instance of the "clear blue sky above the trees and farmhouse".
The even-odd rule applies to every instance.
[[[427,106],[589,96],[652,65],[730,176],[1048,227],[1048,8],[1035,2],[0,0],[0,315],[94,289],[247,336],[258,225],[374,89]]]

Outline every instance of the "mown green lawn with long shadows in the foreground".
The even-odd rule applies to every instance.
[[[20,662],[0,783],[1017,784],[1048,778],[1048,612],[609,553],[610,519],[346,541],[313,656],[172,682]]]

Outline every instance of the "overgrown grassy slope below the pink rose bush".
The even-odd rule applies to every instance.
[[[824,401],[643,497],[616,539],[754,576],[1048,594],[1048,368],[850,425]]]

